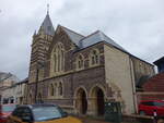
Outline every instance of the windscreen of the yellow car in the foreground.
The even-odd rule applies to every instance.
[[[33,109],[35,121],[47,121],[62,118],[58,107],[36,107]]]

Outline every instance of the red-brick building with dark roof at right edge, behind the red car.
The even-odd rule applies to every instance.
[[[143,81],[138,91],[138,101],[140,100],[164,100],[164,57],[156,60],[159,73]]]

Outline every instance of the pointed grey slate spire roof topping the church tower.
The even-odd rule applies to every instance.
[[[39,29],[43,29],[46,35],[54,36],[55,29],[52,23],[50,21],[49,14],[47,13],[42,26]]]

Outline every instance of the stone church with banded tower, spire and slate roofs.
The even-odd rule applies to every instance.
[[[102,115],[105,101],[137,111],[136,84],[154,66],[125,50],[101,30],[83,36],[58,25],[49,13],[34,33],[26,103],[49,102],[69,112]]]

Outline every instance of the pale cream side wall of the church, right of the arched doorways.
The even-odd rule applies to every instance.
[[[129,54],[114,47],[104,46],[105,77],[113,96],[121,102],[124,113],[134,113],[133,79]]]

